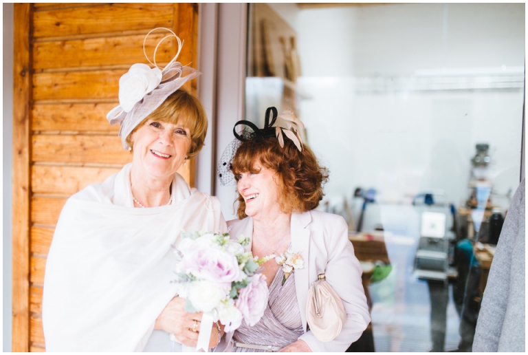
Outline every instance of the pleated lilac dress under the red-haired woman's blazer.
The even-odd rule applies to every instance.
[[[253,345],[285,347],[297,341],[303,331],[300,310],[295,292],[295,277],[289,275],[283,283],[284,272],[279,268],[271,285],[270,298],[264,315],[254,326],[245,321],[233,334],[233,340]],[[232,352],[265,352],[266,350],[233,347]]]

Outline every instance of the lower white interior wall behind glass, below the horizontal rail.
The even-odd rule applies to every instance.
[[[331,170],[329,197],[363,186],[386,202],[408,202],[424,189],[443,189],[461,204],[477,142],[490,144],[492,169],[510,175],[496,181],[496,191],[518,184],[520,90],[355,95],[346,79],[303,86],[314,96],[301,112],[309,144]]]

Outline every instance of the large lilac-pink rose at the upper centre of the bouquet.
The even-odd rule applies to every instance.
[[[225,283],[228,290],[232,281],[241,281],[245,277],[234,255],[199,243],[186,250],[179,270],[201,280]]]

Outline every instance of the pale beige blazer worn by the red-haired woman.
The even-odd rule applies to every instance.
[[[360,338],[371,321],[361,282],[362,268],[348,239],[347,223],[341,216],[313,210],[293,213],[290,227],[292,250],[300,252],[305,261],[305,267],[294,272],[300,318],[305,330],[299,338],[313,352],[344,352]],[[252,238],[253,219],[233,219],[228,222],[228,230],[235,239],[241,235]],[[250,250],[251,244],[246,248]],[[307,332],[306,321],[307,294],[311,283],[322,273],[340,295],[347,311],[341,334],[328,343],[318,341],[311,331]],[[216,351],[230,351],[231,339],[232,333],[225,334]]]

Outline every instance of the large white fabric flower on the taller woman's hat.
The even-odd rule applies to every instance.
[[[125,112],[162,82],[162,71],[146,64],[135,63],[119,79],[119,104]]]

